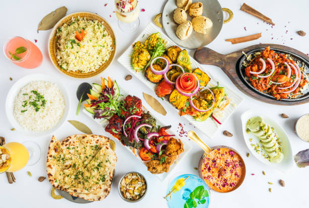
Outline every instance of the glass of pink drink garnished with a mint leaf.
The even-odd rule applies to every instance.
[[[20,47],[25,47],[26,51],[20,54],[15,54],[16,49]],[[12,37],[8,39],[3,50],[5,56],[14,64],[27,69],[38,67],[43,60],[43,55],[39,48],[37,48],[37,46],[35,46],[30,40],[22,37]],[[12,55],[16,55],[19,60],[14,59]]]

